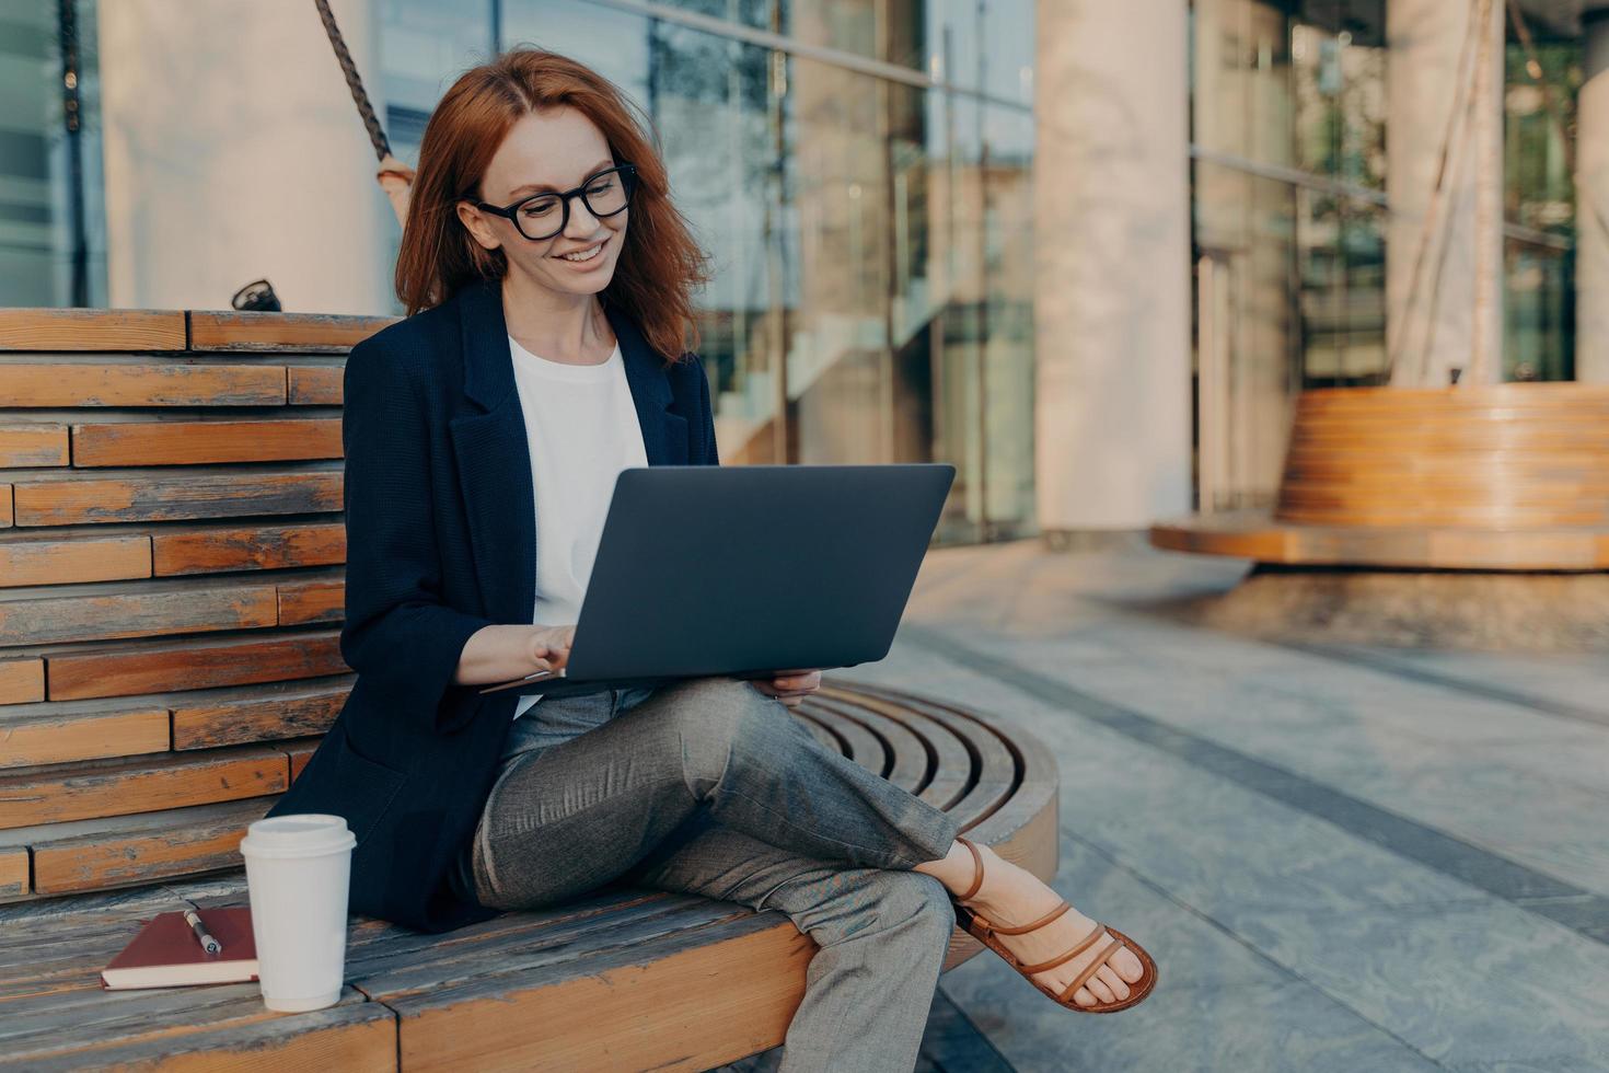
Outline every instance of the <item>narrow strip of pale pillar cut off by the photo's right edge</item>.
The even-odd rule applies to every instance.
[[[1582,13],[1575,111],[1575,378],[1609,383],[1609,6]]]

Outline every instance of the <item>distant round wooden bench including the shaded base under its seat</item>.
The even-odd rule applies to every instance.
[[[1158,521],[1255,561],[1173,608],[1270,640],[1609,652],[1609,384],[1326,388],[1273,510]]]

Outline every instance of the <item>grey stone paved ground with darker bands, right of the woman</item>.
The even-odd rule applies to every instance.
[[[1162,973],[1088,1017],[980,954],[941,980],[920,1068],[1609,1070],[1609,661],[1167,615],[1244,569],[1141,544],[935,550],[888,658],[838,672],[1043,738],[1057,890]]]

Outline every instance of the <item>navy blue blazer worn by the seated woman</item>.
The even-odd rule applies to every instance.
[[[648,465],[719,465],[710,381],[605,307]],[[497,915],[447,877],[496,779],[513,690],[454,684],[483,626],[531,621],[536,508],[496,282],[388,325],[346,360],[346,619],[357,680],[269,816],[333,812],[357,837],[351,911],[422,931]],[[555,626],[560,623],[555,623]]]

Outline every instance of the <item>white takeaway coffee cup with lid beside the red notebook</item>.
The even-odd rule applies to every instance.
[[[323,812],[269,816],[246,827],[251,935],[270,1010],[335,1005],[346,973],[346,898],[357,838]]]

